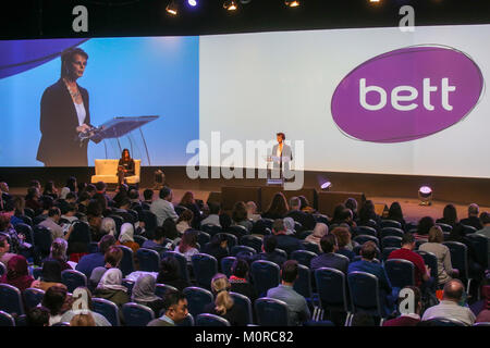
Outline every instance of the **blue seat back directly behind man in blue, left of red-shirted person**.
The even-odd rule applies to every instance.
[[[383,316],[379,301],[378,277],[366,272],[352,272],[347,275],[353,312],[373,313]]]

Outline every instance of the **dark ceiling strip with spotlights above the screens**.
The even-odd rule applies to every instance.
[[[253,0],[235,13],[223,0],[200,0],[172,17],[169,0],[16,0],[1,11],[1,39],[203,35],[317,28],[397,26],[399,9],[411,4],[416,25],[490,23],[490,0],[303,0],[289,9],[283,0]],[[240,3],[240,1],[238,1]],[[74,33],[72,10],[88,9],[88,33]]]

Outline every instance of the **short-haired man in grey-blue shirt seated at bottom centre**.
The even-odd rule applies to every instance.
[[[296,260],[284,262],[281,268],[281,284],[267,291],[267,297],[284,301],[287,304],[289,324],[292,326],[302,325],[310,319],[306,299],[293,289],[294,282],[298,277],[297,264]]]

